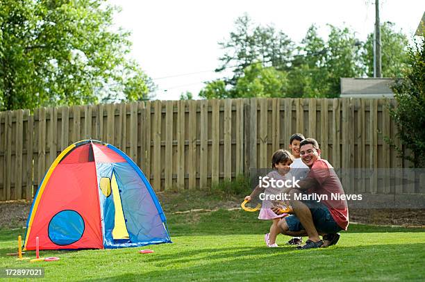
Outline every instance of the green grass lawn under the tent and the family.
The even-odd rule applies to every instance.
[[[168,215],[173,244],[140,248],[41,251],[59,256],[51,263],[29,263],[5,256],[16,251],[24,229],[0,231],[0,267],[45,267],[54,281],[406,281],[425,279],[423,229],[351,224],[336,246],[298,251],[265,247],[269,222],[257,213],[219,210]],[[153,249],[153,254],[138,254]],[[34,251],[26,256],[35,257]]]

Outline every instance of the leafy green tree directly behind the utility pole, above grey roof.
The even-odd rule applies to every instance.
[[[392,22],[381,25],[382,75],[383,77],[401,77],[406,70],[408,38],[401,31],[395,31]],[[374,76],[374,33],[367,36],[362,54],[366,74]]]

